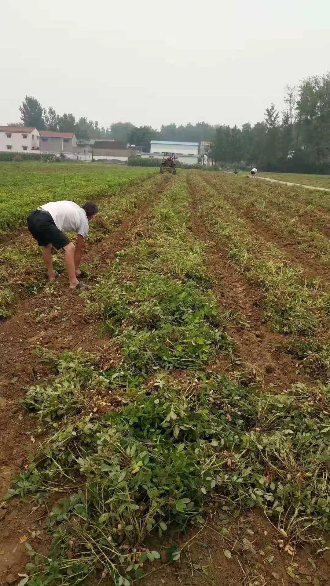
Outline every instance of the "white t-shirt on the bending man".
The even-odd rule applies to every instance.
[[[76,232],[84,238],[89,229],[85,210],[74,202],[50,202],[41,206],[50,213],[55,225],[62,232]]]

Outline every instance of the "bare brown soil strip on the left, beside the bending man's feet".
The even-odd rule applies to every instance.
[[[106,270],[115,260],[116,252],[134,239],[130,231],[140,224],[149,206],[169,187],[169,183],[167,178],[164,179],[163,184],[155,190],[154,199],[149,198],[144,202],[106,240],[92,248],[84,260],[97,258],[100,261],[100,274]],[[47,312],[52,311],[54,306],[63,309],[53,320],[36,323],[36,309]],[[0,324],[0,583],[2,577],[8,578],[8,574],[16,577],[17,571],[22,570],[26,563],[26,549],[19,540],[24,534],[29,536],[29,531],[42,530],[41,523],[47,516],[47,511],[42,507],[33,511],[32,505],[22,505],[18,499],[9,500],[5,507],[1,507],[1,496],[11,479],[26,464],[28,454],[35,451],[43,439],[36,437],[35,444],[32,444],[31,436],[37,424],[28,414],[23,413],[18,402],[25,395],[26,386],[39,384],[52,373],[51,367],[43,364],[35,354],[35,347],[45,346],[55,352],[82,347],[85,352],[99,350],[102,356],[109,358],[113,353],[111,340],[97,337],[99,322],[86,321],[84,308],[84,299],[77,292],[69,291],[66,275],[63,275],[49,291],[23,299],[18,305],[18,313]],[[46,553],[49,539],[45,534],[42,534],[42,539],[37,540],[36,547],[41,553]]]

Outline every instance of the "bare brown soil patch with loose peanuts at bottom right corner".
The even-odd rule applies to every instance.
[[[221,533],[223,528],[225,536]],[[305,547],[295,550],[292,557],[274,544],[280,537],[258,510],[242,515],[237,524],[217,523],[217,517],[214,516],[201,532],[194,532],[179,540],[174,538],[174,543],[184,546],[180,563],[146,567],[146,573],[152,573],[141,583],[143,586],[291,586],[308,584],[310,581],[306,577],[311,576],[312,583],[315,578],[318,580],[314,584],[329,584],[329,551],[316,559],[310,548]],[[165,544],[167,547],[169,545]],[[225,556],[225,550],[230,551],[230,558]],[[166,563],[164,551],[161,557]],[[311,565],[314,559],[315,568]],[[297,578],[287,573],[292,562],[297,564],[292,566]]]

